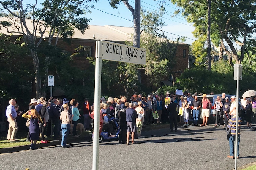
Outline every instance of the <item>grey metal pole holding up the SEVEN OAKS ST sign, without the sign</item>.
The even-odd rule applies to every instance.
[[[101,65],[102,55],[100,52],[101,42],[96,41],[95,54],[95,87],[94,87],[94,125],[93,125],[93,154],[92,169],[99,169],[99,112],[100,112],[100,91],[101,91]]]

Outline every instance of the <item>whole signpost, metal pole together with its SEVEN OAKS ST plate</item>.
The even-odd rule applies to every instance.
[[[133,64],[146,64],[146,50],[110,41],[96,41],[95,49],[95,89],[92,169],[99,168],[99,112],[101,90],[102,59]]]

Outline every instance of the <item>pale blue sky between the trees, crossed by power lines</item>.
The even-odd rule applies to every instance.
[[[110,7],[109,1],[107,0],[99,0],[92,4],[94,4],[95,9],[91,8],[90,9],[91,14],[86,14],[86,17],[92,19],[92,21],[90,22],[90,25],[102,25],[102,26],[116,25],[116,26],[124,26],[124,27],[133,26],[133,22],[122,19],[122,18],[125,18],[128,20],[133,20],[132,13],[122,2],[118,5],[118,9],[113,9],[112,7]],[[134,7],[134,0],[130,0],[129,4]],[[175,8],[177,7],[175,5],[172,5],[170,2],[168,5],[169,6],[165,5],[166,14],[163,16],[164,17],[163,19],[165,21],[165,24],[167,24],[167,26],[163,27],[163,30],[168,32],[166,33],[168,38],[175,39],[178,37],[177,35],[185,36],[190,38],[190,39],[187,39],[185,43],[191,44],[195,40],[195,38],[191,33],[194,30],[194,27],[191,26],[191,24],[187,23],[185,18],[183,18],[181,15],[176,17],[171,17],[171,15],[173,15],[173,12],[176,10]],[[153,11],[153,10],[157,10],[158,7],[159,6],[157,4],[157,1],[141,0],[141,8],[143,9]],[[109,14],[106,14],[102,11],[107,12]],[[113,15],[110,15],[110,14],[113,14]]]

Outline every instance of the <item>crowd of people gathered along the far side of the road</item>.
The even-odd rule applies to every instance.
[[[256,97],[243,98],[241,108],[236,108],[236,97],[230,97],[232,103],[228,97],[225,97],[225,93],[218,96],[214,103],[207,98],[206,94],[202,95],[203,99],[200,101],[197,97],[197,93],[191,95],[191,93],[184,91],[183,95],[177,95],[167,91],[164,94],[149,93],[146,96],[142,94],[136,94],[129,97],[129,101],[126,96],[120,95],[119,98],[109,97],[106,100],[104,97],[100,99],[100,132],[106,130],[108,135],[112,137],[113,125],[109,123],[112,117],[119,119],[120,134],[119,142],[129,144],[129,135],[132,134],[132,143],[135,144],[134,134],[138,134],[138,138],[142,138],[142,127],[148,124],[158,123],[170,123],[170,132],[177,132],[177,122],[184,122],[183,126],[189,126],[189,116],[193,118],[193,126],[197,125],[200,110],[203,117],[203,123],[200,126],[207,126],[210,111],[213,106],[216,109],[216,121],[214,126],[223,125],[228,127],[228,122],[233,117],[234,110],[241,110],[242,121],[247,122],[247,128],[251,128],[251,124],[256,123]],[[166,99],[166,100],[165,100]],[[169,99],[169,100],[167,100]],[[50,102],[52,101],[52,103]],[[16,117],[22,112],[18,112],[19,106],[16,105],[16,100],[11,99],[9,106],[6,110],[7,121],[9,122],[9,130],[7,134],[7,140],[16,141],[17,122]],[[81,109],[79,109],[81,108]],[[181,114],[180,114],[181,108]],[[80,111],[83,110],[83,114]],[[153,114],[158,114],[154,119]],[[178,115],[179,113],[179,115]],[[70,124],[73,124],[72,137],[79,137],[76,132],[76,126],[80,117],[83,116],[83,125],[85,130],[91,129],[91,120],[94,117],[94,104],[89,106],[88,99],[84,99],[83,107],[79,107],[77,100],[67,100],[50,98],[46,101],[46,98],[40,98],[38,100],[31,99],[29,109],[22,115],[27,118],[27,126],[29,132],[27,141],[31,142],[31,149],[36,149],[35,143],[39,139],[41,134],[41,143],[47,143],[45,135],[51,137],[51,126],[53,128],[53,139],[60,139],[62,131],[63,148],[68,147],[66,144],[67,135],[69,134]],[[173,129],[174,124],[174,129]]]

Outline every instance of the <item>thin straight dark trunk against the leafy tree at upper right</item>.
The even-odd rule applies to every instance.
[[[207,64],[206,68],[208,71],[211,71],[211,38],[210,38],[210,31],[211,31],[211,0],[208,0],[208,25],[207,25]]]

